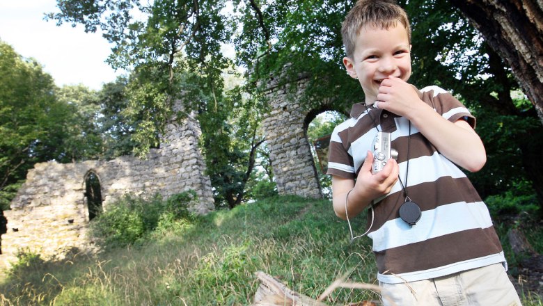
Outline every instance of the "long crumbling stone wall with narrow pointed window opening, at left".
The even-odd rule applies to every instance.
[[[168,198],[194,190],[199,202],[190,209],[198,214],[211,211],[212,187],[210,178],[203,175],[205,162],[198,148],[199,137],[199,124],[189,117],[180,124],[168,124],[160,148],[150,150],[146,159],[121,156],[111,161],[36,164],[11,202],[11,209],[4,211],[8,224],[1,236],[0,261],[6,264],[13,260],[19,249],[47,257],[71,247],[88,248],[85,179],[91,171],[100,180],[104,210],[125,193],[159,193]]]

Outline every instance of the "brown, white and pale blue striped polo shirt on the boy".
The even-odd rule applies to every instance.
[[[475,127],[469,110],[445,90],[430,86],[418,93],[446,120],[462,119]],[[375,220],[368,236],[373,241],[378,280],[414,282],[500,262],[505,265],[489,211],[464,172],[406,118],[378,108],[369,112],[363,104],[354,104],[351,118],[334,129],[328,174],[356,179],[366,152],[372,151],[377,129],[390,132],[392,147],[398,151],[400,179],[422,211],[412,227],[400,218],[398,210],[404,203],[400,181],[374,204]]]

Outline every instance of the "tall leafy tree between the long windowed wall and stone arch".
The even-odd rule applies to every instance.
[[[58,1],[61,13],[48,17],[59,24],[84,24],[86,31],[100,27],[114,45],[111,66],[132,70],[123,115],[134,122],[132,140],[139,153],[158,145],[174,101],[184,102],[180,113],[198,113],[217,203],[234,207],[244,198],[262,139],[254,124],[238,129],[231,123],[253,113],[239,111],[241,100],[235,106],[233,99],[241,99],[239,93],[224,94],[222,73],[231,61],[221,54],[221,43],[228,42],[232,33],[222,13],[225,3],[159,0],[145,6],[129,0]],[[134,19],[130,15],[134,9],[145,17]]]

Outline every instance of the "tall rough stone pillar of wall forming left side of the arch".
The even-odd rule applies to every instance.
[[[262,128],[269,148],[269,157],[280,195],[322,198],[317,168],[311,155],[304,122],[310,113],[299,100],[306,82],[280,85],[278,79],[268,83],[267,99],[271,110],[265,115]],[[291,91],[290,86],[297,86]]]

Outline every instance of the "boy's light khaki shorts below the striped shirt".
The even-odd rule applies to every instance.
[[[385,284],[383,305],[520,306],[521,302],[502,264],[455,273],[432,280]]]

